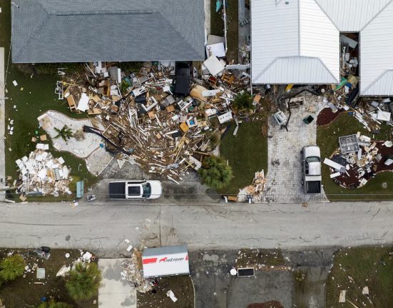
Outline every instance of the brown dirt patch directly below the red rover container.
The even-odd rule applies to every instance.
[[[138,308],[193,308],[194,287],[191,278],[186,275],[157,279],[153,292],[137,292]],[[166,292],[172,290],[177,302],[173,302]]]

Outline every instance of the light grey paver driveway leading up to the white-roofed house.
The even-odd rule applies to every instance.
[[[269,202],[320,202],[327,201],[325,194],[306,195],[302,187],[302,158],[300,151],[303,146],[317,144],[317,114],[325,106],[322,99],[303,92],[305,104],[291,109],[287,129],[280,128],[270,117],[268,140],[267,185],[265,201]],[[287,117],[289,112],[285,111]],[[306,116],[313,116],[311,124],[305,124]],[[279,164],[272,164],[278,160]],[[323,185],[323,183],[322,183]]]

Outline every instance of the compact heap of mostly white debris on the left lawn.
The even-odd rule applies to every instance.
[[[68,184],[72,181],[62,157],[54,158],[44,149],[31,151],[29,157],[16,160],[22,184],[16,189],[21,198],[28,194],[71,194]],[[16,182],[15,182],[16,183]]]

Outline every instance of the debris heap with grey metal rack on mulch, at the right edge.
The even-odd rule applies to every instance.
[[[360,132],[340,137],[340,149],[324,163],[330,178],[344,188],[362,187],[378,172],[393,170],[392,141],[375,141]]]

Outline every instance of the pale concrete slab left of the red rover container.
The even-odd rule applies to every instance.
[[[121,264],[127,259],[99,259],[103,282],[98,290],[99,308],[136,308],[136,290],[121,280]]]

